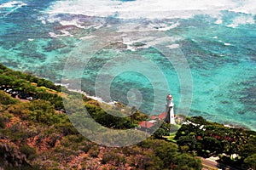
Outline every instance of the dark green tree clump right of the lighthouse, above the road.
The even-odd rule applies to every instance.
[[[219,156],[226,165],[255,169],[256,133],[224,127],[201,116],[188,118],[176,133],[177,144],[198,156]]]

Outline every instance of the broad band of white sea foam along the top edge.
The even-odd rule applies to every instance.
[[[219,16],[221,10],[253,14],[256,11],[255,2],[255,0],[244,0],[242,2],[233,0],[137,0],[122,3],[111,0],[67,0],[53,3],[48,13],[84,14],[101,17],[115,16],[125,19],[189,18],[194,14]]]

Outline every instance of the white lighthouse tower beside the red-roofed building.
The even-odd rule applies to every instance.
[[[169,124],[176,124],[174,119],[174,104],[172,102],[172,95],[168,94],[166,96],[166,119],[165,121]]]

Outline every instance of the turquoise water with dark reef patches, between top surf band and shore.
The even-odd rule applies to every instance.
[[[80,58],[90,58],[82,80],[82,89],[90,95],[109,100],[104,93],[96,91],[96,78],[98,75],[106,80],[114,77],[109,88],[111,100],[128,104],[127,94],[131,94],[131,98],[142,100],[132,105],[158,114],[164,111],[166,94],[171,91],[176,111],[181,114],[187,114],[186,108],[191,102],[189,116],[204,116],[211,121],[256,129],[256,28],[252,21],[255,15],[222,10],[222,21],[218,24],[209,14],[176,19],[119,19],[119,14],[108,17],[51,14],[47,11],[57,3],[53,0],[10,2],[0,4],[0,62],[3,65],[61,82],[67,59],[73,59],[76,64]],[[136,1],[126,3],[133,2]],[[245,19],[247,21],[243,21]],[[154,31],[147,33],[148,29]],[[172,48],[168,50],[175,59],[182,52],[193,83],[181,88],[180,83],[186,80],[179,79],[177,64],[170,62],[154,45],[141,44],[143,48],[139,48],[130,44],[136,38],[138,42],[148,42],[147,38],[153,34],[169,38],[167,43]],[[98,37],[91,38],[91,35]],[[99,45],[113,37],[116,40],[111,44],[104,48]],[[85,51],[101,48],[88,56],[80,51],[81,47]],[[181,51],[177,52],[177,48]],[[142,58],[134,58],[137,55]],[[119,56],[125,58],[118,60]],[[130,65],[125,67],[125,62]],[[107,70],[102,71],[108,63]],[[150,67],[151,64],[155,68]],[[182,71],[183,65],[185,63],[179,63],[178,71]],[[70,78],[81,77],[76,69],[79,68],[70,72]],[[102,83],[105,82],[102,80]],[[189,88],[193,89],[192,93]],[[130,93],[131,89],[140,93]],[[186,99],[192,95],[192,99],[181,101],[181,94]]]

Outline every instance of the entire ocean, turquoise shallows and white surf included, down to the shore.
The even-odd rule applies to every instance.
[[[0,62],[149,115],[256,130],[256,2],[0,1]],[[77,82],[79,84],[73,84]]]

